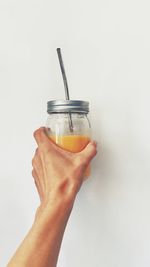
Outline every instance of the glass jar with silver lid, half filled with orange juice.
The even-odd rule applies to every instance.
[[[81,100],[52,100],[47,103],[47,134],[61,148],[80,152],[91,139],[88,119],[89,102]],[[90,166],[84,177],[90,175]]]

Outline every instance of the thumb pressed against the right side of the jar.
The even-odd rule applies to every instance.
[[[97,143],[96,141],[91,141],[88,145],[79,153],[82,158],[85,159],[86,164],[88,164],[97,154]]]

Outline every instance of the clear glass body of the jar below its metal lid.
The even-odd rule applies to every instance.
[[[52,141],[70,152],[80,152],[91,139],[91,125],[85,113],[51,113],[46,121],[46,129]],[[84,176],[88,177],[89,174],[90,167]]]

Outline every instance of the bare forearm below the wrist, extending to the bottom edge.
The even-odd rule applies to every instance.
[[[55,267],[73,203],[73,199],[58,199],[41,206],[30,232],[7,267]]]

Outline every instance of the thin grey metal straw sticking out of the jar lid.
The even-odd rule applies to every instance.
[[[68,82],[67,82],[67,77],[66,77],[66,73],[65,73],[65,67],[64,67],[64,63],[63,63],[63,59],[62,59],[61,49],[60,48],[57,48],[57,54],[58,54],[61,73],[62,73],[62,77],[63,77],[63,81],[64,81],[66,100],[70,100]],[[70,132],[73,132],[73,123],[72,123],[71,113],[69,113],[69,127],[70,127]]]

